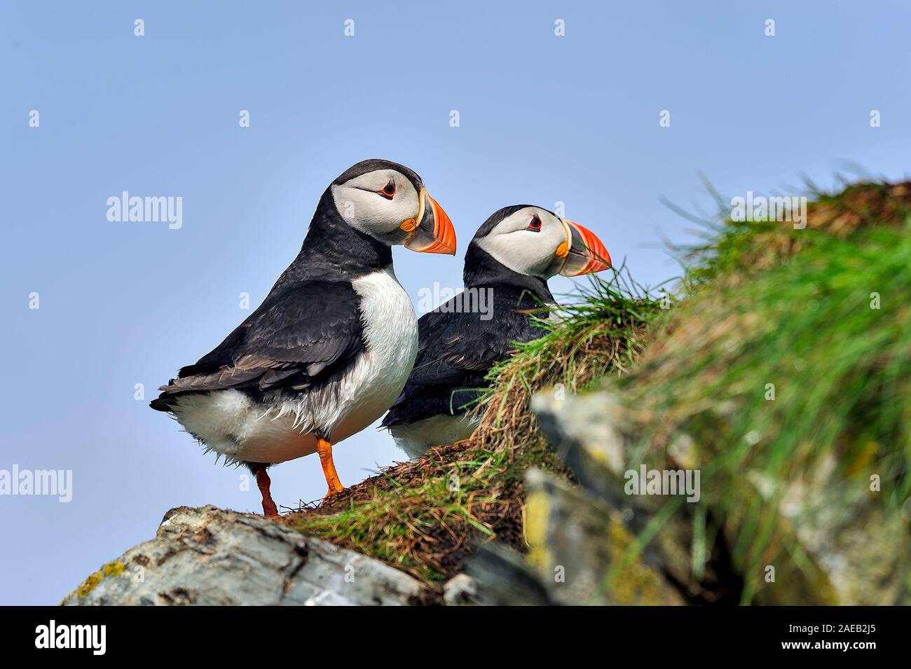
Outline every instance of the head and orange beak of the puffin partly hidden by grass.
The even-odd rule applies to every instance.
[[[578,277],[610,267],[608,249],[590,230],[534,205],[513,205],[496,211],[477,228],[468,245],[469,265],[480,261],[475,249],[518,274],[550,279],[557,274]]]

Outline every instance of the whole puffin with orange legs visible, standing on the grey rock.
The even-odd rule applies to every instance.
[[[277,516],[267,470],[317,453],[341,492],[333,444],[380,418],[417,353],[417,318],[392,247],[455,255],[455,229],[413,170],[382,159],[322,193],[301,251],[241,325],[150,406],[177,419],[216,461],[246,465]]]

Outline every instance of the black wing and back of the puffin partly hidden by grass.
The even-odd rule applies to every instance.
[[[384,428],[466,411],[486,388],[487,372],[507,357],[516,341],[544,334],[522,309],[528,305],[516,299],[495,299],[490,319],[481,313],[446,312],[446,305],[418,320],[415,368],[385,415]]]

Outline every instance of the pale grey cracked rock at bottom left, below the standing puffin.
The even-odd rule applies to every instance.
[[[88,576],[64,605],[404,605],[412,576],[278,522],[213,506],[165,514],[155,539]]]

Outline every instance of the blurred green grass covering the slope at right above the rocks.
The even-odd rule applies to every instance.
[[[845,491],[878,475],[875,503],[891,517],[911,492],[911,225],[904,203],[878,208],[885,187],[868,188],[818,200],[826,219],[842,215],[837,230],[728,222],[693,249],[687,294],[620,385],[656,457],[667,460],[674,431],[693,437],[695,516],[711,510],[734,537],[744,603],[762,589],[763,565],[799,557],[780,505],[826,461],[827,485]]]

